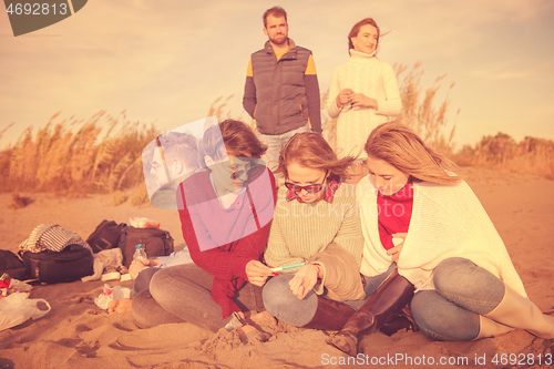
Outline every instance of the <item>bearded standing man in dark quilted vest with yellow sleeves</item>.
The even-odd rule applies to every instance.
[[[264,13],[264,49],[252,54],[243,106],[256,120],[257,136],[268,146],[261,157],[277,168],[279,151],[296,133],[321,133],[319,85],[311,51],[288,38],[287,12]]]

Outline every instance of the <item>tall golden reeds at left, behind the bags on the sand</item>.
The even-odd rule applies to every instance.
[[[153,126],[126,121],[124,111],[54,123],[59,114],[0,152],[0,191],[112,192],[144,181],[141,154],[158,134]]]

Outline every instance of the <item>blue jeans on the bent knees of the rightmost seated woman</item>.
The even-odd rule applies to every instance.
[[[419,328],[438,340],[471,340],[479,335],[479,316],[491,312],[504,297],[504,283],[469,259],[442,260],[433,274],[434,290],[421,290],[410,305]]]

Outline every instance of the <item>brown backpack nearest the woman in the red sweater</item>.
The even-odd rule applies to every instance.
[[[167,256],[173,253],[173,238],[167,230],[124,227],[121,233],[120,248],[123,254],[123,265],[127,268],[131,262],[133,262],[137,244],[143,245],[143,249],[148,258]]]

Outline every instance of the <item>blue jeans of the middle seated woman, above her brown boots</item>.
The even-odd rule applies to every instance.
[[[397,268],[393,263],[390,268],[376,277],[366,277],[366,299],[345,301],[355,309],[359,309],[363,303],[373,294],[379,285]],[[314,290],[309,291],[305,298],[298,299],[293,294],[288,285],[294,274],[283,274],[271,278],[261,291],[264,307],[267,312],[279,320],[288,322],[291,326],[304,327],[314,318],[317,311],[318,299]]]

